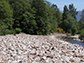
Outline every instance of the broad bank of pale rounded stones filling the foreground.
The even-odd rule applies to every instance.
[[[0,63],[84,63],[84,46],[54,35],[0,36]]]

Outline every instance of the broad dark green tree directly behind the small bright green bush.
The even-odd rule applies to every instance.
[[[10,0],[14,13],[14,28],[21,28],[25,33],[34,34],[36,30],[35,11],[28,0]],[[12,3],[13,4],[12,4]],[[17,8],[16,8],[17,7]]]

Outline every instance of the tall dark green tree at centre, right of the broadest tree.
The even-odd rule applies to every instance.
[[[32,8],[35,8],[35,20],[36,20],[36,33],[48,34],[49,33],[49,18],[48,7],[44,3],[44,0],[32,0]]]

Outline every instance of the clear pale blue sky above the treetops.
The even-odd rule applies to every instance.
[[[64,5],[69,6],[69,4],[74,4],[77,11],[82,11],[84,9],[84,0],[47,0],[52,4],[56,4],[60,11],[63,11]]]

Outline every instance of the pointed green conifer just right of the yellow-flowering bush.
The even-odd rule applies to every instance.
[[[76,20],[72,17],[66,6],[64,7],[63,21],[61,27],[64,29],[65,32],[69,32],[72,35],[77,32]]]

